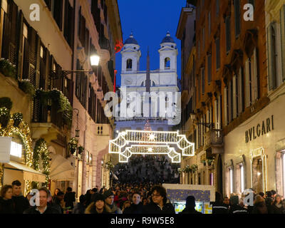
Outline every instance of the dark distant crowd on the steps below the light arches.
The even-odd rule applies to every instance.
[[[132,155],[128,164],[115,165],[114,172],[120,183],[177,183],[177,168],[177,164],[170,162],[165,155]]]

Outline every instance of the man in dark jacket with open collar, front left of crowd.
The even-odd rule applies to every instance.
[[[24,211],[24,214],[58,214],[58,211],[48,205],[48,190],[41,188],[39,191],[40,204]]]

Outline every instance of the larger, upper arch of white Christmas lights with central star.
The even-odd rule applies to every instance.
[[[185,135],[179,134],[179,131],[165,132],[152,130],[126,130],[125,132],[119,133],[115,140],[109,141],[109,153],[119,154],[121,162],[128,162],[128,159],[125,159],[124,156],[130,151],[125,149],[125,146],[130,144],[141,145],[140,149],[138,149],[138,153],[140,154],[150,154],[150,152],[153,151],[149,151],[148,149],[152,148],[152,150],[155,150],[157,145],[161,145],[162,147],[171,145],[172,150],[167,151],[167,153],[177,153],[173,148],[177,147],[180,152],[182,152],[182,156],[195,155],[195,143],[189,142]],[[142,145],[145,145],[146,149]],[[157,152],[155,152],[155,154],[157,154]],[[175,160],[175,162],[177,162],[177,160]]]

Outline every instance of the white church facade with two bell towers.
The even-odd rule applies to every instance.
[[[172,110],[172,114],[177,111],[176,107],[180,103],[180,89],[177,79],[178,51],[169,32],[162,39],[158,52],[160,53],[160,68],[150,71],[148,66],[147,71],[140,71],[140,45],[133,37],[133,33],[125,41],[121,51],[121,102],[119,117],[116,118],[117,133],[124,130],[144,130],[147,120],[151,125],[151,130],[158,131],[171,130],[172,125],[175,124],[172,118],[177,118],[180,121],[180,116],[178,117],[180,113],[177,113],[176,116],[173,115],[172,118],[166,114],[167,110]],[[149,56],[147,58],[149,61]],[[149,75],[151,100],[146,98],[145,93],[147,92],[147,74]],[[134,98],[134,94],[138,96]],[[158,97],[159,94],[165,95],[163,103],[162,99]],[[123,104],[124,98],[126,98],[125,106]],[[135,105],[131,106],[132,102]],[[150,108],[146,108],[146,104]],[[165,107],[165,113],[162,113],[161,107]],[[133,115],[128,115],[128,110]]]

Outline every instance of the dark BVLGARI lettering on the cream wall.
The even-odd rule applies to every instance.
[[[256,126],[253,126],[245,132],[245,143],[250,142],[259,138],[262,135],[266,135],[271,130],[274,130],[274,116],[271,115],[271,118],[263,120],[262,123],[258,123]]]

